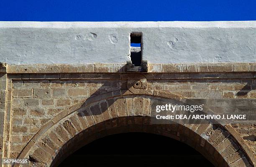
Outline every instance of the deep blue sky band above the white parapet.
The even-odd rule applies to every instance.
[[[0,21],[256,20],[256,0],[0,0]]]

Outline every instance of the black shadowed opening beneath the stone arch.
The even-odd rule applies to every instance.
[[[192,147],[157,134],[129,132],[97,139],[69,155],[59,167],[213,167]]]

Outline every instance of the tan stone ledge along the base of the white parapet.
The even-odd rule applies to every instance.
[[[0,65],[0,73],[126,73],[125,64]],[[256,63],[148,64],[148,73],[256,72]]]

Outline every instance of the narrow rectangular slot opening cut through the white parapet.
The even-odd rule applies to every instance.
[[[141,66],[141,63],[142,63],[141,34],[142,33],[131,33],[130,35],[131,61],[132,61],[132,64],[134,64],[134,66]]]

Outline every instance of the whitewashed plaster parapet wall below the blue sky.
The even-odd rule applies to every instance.
[[[256,21],[0,22],[0,62],[126,63],[132,32],[148,63],[256,62]]]

